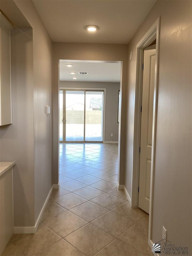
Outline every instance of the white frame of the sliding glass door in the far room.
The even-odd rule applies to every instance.
[[[103,143],[104,142],[104,137],[105,137],[105,103],[106,103],[106,88],[73,88],[73,87],[59,87],[59,90],[63,90],[64,91],[64,103],[63,103],[63,107],[65,104],[65,91],[66,90],[70,90],[70,91],[84,91],[85,95],[86,95],[86,91],[98,91],[98,92],[104,92],[104,107],[103,107],[103,141],[66,141],[65,137],[66,137],[66,128],[64,127],[66,125],[63,125],[63,141],[59,141],[59,143]],[[85,111],[85,104],[84,104],[84,111]],[[66,108],[64,107],[64,115],[66,117]],[[85,133],[85,114],[84,114],[84,133]]]

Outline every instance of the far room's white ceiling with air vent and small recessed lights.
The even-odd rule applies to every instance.
[[[72,64],[67,67],[66,64]],[[76,72],[72,75],[70,72]],[[79,75],[78,72],[87,72],[87,75]],[[60,81],[85,81],[85,82],[120,82],[121,63],[104,62],[70,62],[59,61]],[[73,77],[77,77],[76,80]]]

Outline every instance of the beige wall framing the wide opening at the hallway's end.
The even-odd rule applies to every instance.
[[[81,44],[53,43],[53,183],[58,183],[58,60],[100,60],[122,61],[122,118],[119,183],[124,182],[125,131],[126,131],[126,92],[127,92],[127,45],[126,44]],[[121,107],[120,103],[120,107]]]

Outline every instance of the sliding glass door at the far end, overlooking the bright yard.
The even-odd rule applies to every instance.
[[[102,142],[104,91],[61,89],[59,96],[60,142]]]

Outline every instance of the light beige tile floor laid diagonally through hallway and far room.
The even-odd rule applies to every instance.
[[[153,255],[149,216],[118,190],[117,144],[60,144],[60,187],[35,234],[13,234],[4,255]]]

